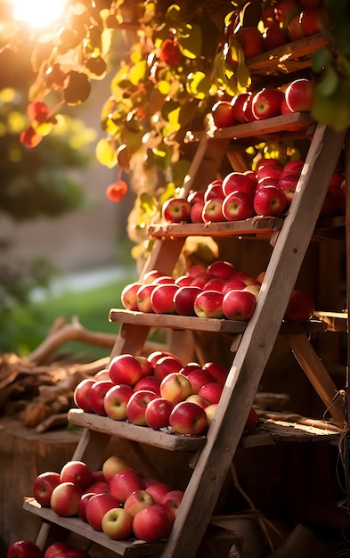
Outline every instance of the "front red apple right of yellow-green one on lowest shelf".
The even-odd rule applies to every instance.
[[[166,510],[159,504],[136,513],[133,521],[134,536],[146,543],[155,543],[161,538],[168,537],[171,521]]]

